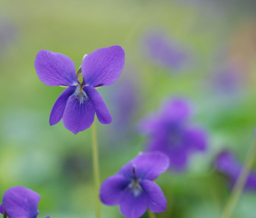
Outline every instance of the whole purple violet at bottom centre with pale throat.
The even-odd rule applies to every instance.
[[[155,184],[160,173],[169,167],[169,160],[161,152],[140,154],[123,166],[116,175],[105,179],[99,196],[106,205],[119,205],[125,217],[140,217],[149,210],[166,210],[167,201]]]

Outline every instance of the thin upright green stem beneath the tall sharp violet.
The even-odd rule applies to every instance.
[[[101,217],[100,211],[100,202],[99,202],[99,152],[98,152],[98,143],[97,143],[97,134],[96,134],[96,124],[92,124],[92,157],[93,157],[93,180],[95,186],[95,217]]]

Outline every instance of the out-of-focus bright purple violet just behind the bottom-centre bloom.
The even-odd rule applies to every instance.
[[[193,152],[205,151],[207,137],[201,128],[187,122],[190,108],[186,101],[167,101],[158,114],[152,114],[140,123],[140,130],[148,134],[146,151],[160,151],[170,159],[170,169],[186,169]]]

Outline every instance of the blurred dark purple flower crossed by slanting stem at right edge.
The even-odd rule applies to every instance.
[[[232,152],[220,152],[214,161],[214,165],[217,171],[228,177],[228,181],[231,187],[236,184],[243,166],[241,163],[239,163]],[[251,172],[249,174],[245,183],[245,189],[256,191],[256,172]]]

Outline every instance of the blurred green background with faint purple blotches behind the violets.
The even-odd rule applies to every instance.
[[[0,196],[22,185],[40,194],[39,217],[94,217],[91,129],[49,126],[63,88],[39,80],[34,58],[48,49],[78,69],[84,54],[120,45],[122,75],[99,89],[113,117],[110,125],[96,119],[101,180],[143,151],[137,123],[182,97],[207,131],[207,151],[193,154],[186,171],[158,178],[168,207],[157,217],[218,217],[230,188],[214,158],[225,148],[243,163],[255,143],[255,10],[254,0],[1,0]],[[244,192],[233,217],[256,217],[255,202],[254,190]],[[122,217],[101,207],[102,217]]]

